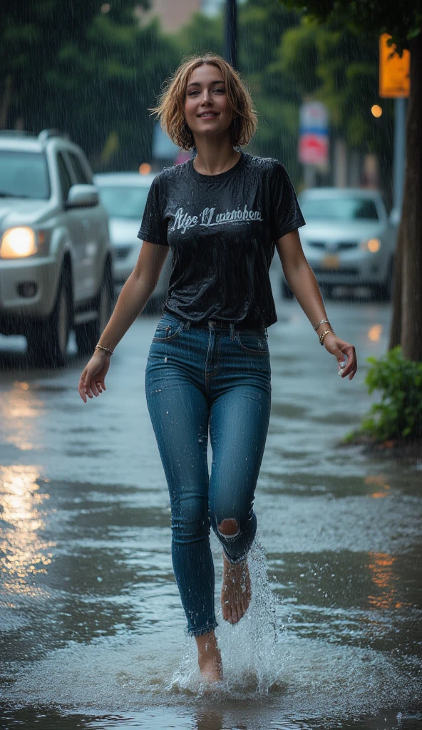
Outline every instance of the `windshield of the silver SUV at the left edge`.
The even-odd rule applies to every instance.
[[[0,150],[0,198],[50,198],[47,160],[42,152]]]

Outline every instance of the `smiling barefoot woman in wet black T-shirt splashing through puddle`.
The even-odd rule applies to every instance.
[[[210,526],[223,547],[223,618],[250,602],[247,555],[264,453],[271,383],[266,328],[275,323],[269,265],[277,247],[286,280],[321,345],[356,372],[354,347],[334,334],[297,229],[304,225],[283,165],[253,157],[250,96],[223,58],[186,61],[156,108],[169,136],[196,157],[151,186],[142,250],[112,318],[80,377],[83,401],[105,390],[112,350],[145,307],[172,249],[169,296],[150,347],[146,395],[169,486],[172,560],[199,668],[222,666],[215,639]],[[212,471],[207,466],[210,431]]]

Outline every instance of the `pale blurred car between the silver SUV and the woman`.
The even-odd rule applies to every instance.
[[[114,250],[114,282],[119,290],[137,263],[142,242],[137,238],[155,175],[137,172],[104,172],[94,175],[101,202],[110,216],[110,238]],[[157,312],[167,295],[171,256],[167,256],[146,312]]]

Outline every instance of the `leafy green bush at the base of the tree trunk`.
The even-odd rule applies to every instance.
[[[361,426],[361,433],[377,441],[422,436],[422,363],[406,360],[401,347],[382,358],[368,358],[372,367],[365,382],[369,393],[381,391]]]

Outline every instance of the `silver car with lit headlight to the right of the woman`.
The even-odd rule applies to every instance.
[[[336,285],[369,287],[390,299],[396,226],[378,191],[310,188],[299,195],[306,226],[300,237],[318,283],[328,293]],[[282,278],[282,293],[291,297]]]

